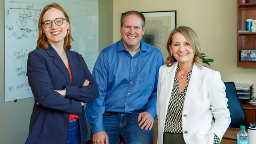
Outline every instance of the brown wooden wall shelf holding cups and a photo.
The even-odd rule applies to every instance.
[[[242,49],[256,49],[256,33],[238,33],[246,30],[246,19],[256,20],[256,0],[239,4],[237,0],[237,67],[256,68],[256,61],[241,61]]]

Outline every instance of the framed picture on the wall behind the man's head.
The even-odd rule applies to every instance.
[[[164,59],[167,58],[166,43],[171,31],[177,27],[177,11],[141,13],[146,18],[145,34],[142,36],[143,41],[157,47],[162,52]]]

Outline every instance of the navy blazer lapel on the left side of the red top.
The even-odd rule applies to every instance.
[[[49,49],[46,52],[50,57],[54,57],[52,62],[60,69],[60,71],[66,77],[66,81],[68,85],[70,85],[70,75],[68,73],[68,69],[65,66],[65,63],[60,58],[59,54],[53,49],[53,47],[50,44],[49,44]]]

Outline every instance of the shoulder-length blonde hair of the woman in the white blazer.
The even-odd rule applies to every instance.
[[[166,49],[169,53],[168,57],[166,58],[166,62],[165,62],[166,66],[171,67],[173,65],[173,62],[177,61],[174,57],[171,56],[171,51],[169,49],[169,45],[172,45],[172,37],[176,33],[181,33],[186,37],[186,39],[188,40],[188,42],[194,52],[194,62],[200,69],[202,69],[203,62],[202,62],[202,57],[201,57],[201,53],[200,53],[201,46],[200,46],[199,39],[198,39],[195,31],[193,29],[191,29],[190,27],[186,27],[186,26],[180,26],[180,27],[174,28],[172,30],[172,32],[169,36],[168,42],[166,44]]]

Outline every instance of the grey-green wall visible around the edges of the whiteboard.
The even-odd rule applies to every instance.
[[[39,0],[36,0],[39,2]],[[66,1],[66,0],[65,0]],[[99,50],[113,42],[113,0],[99,0]],[[34,98],[4,102],[4,0],[0,0],[0,143],[25,143]],[[89,127],[89,137],[90,137]]]

